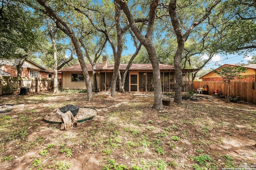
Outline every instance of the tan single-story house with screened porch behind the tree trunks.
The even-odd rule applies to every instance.
[[[114,64],[108,64],[106,60],[103,60],[103,64],[96,64],[95,72],[97,80],[97,90],[99,92],[110,91],[111,80],[114,70]],[[126,69],[127,64],[120,64],[119,70],[121,76]],[[86,64],[88,73],[90,75],[90,81],[92,78],[92,66]],[[159,64],[162,82],[162,92],[174,92],[175,87],[175,74],[174,66],[169,64]],[[70,66],[61,70],[62,72],[62,88],[63,89],[86,89],[84,82],[84,76],[82,74],[82,68],[80,64]],[[196,69],[183,69],[182,70],[182,92],[193,91],[193,74]],[[126,81],[124,84],[124,90],[126,92],[153,92],[153,70],[151,64],[132,64]],[[119,86],[116,86],[116,90],[119,90]]]

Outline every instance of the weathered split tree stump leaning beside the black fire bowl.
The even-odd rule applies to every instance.
[[[60,117],[60,119],[62,120],[60,130],[68,130],[72,127],[77,127],[77,120],[74,119],[74,116],[72,115],[70,110],[66,113],[63,113],[62,111],[57,109],[56,115],[58,115],[58,117]]]

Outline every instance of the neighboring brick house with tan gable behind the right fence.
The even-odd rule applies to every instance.
[[[227,66],[236,67],[236,66],[239,66],[239,64],[224,64],[223,66],[220,66],[220,67],[216,68],[215,70],[218,70],[222,67],[227,67]],[[240,82],[254,82],[254,81],[256,81],[256,64],[246,64],[242,67],[247,68],[246,72],[240,74],[244,78],[236,77],[232,81],[240,81]],[[214,70],[209,72],[208,74],[200,77],[199,79],[202,79],[203,81],[211,81],[211,82],[213,82],[213,81],[221,82],[222,81],[222,77],[220,75],[216,74],[214,72]]]

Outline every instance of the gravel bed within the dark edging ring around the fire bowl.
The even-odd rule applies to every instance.
[[[97,114],[97,110],[90,107],[79,107],[79,111],[75,116],[78,122],[92,119]],[[52,124],[61,124],[61,119],[56,115],[56,111],[51,111],[44,116],[44,122]]]

